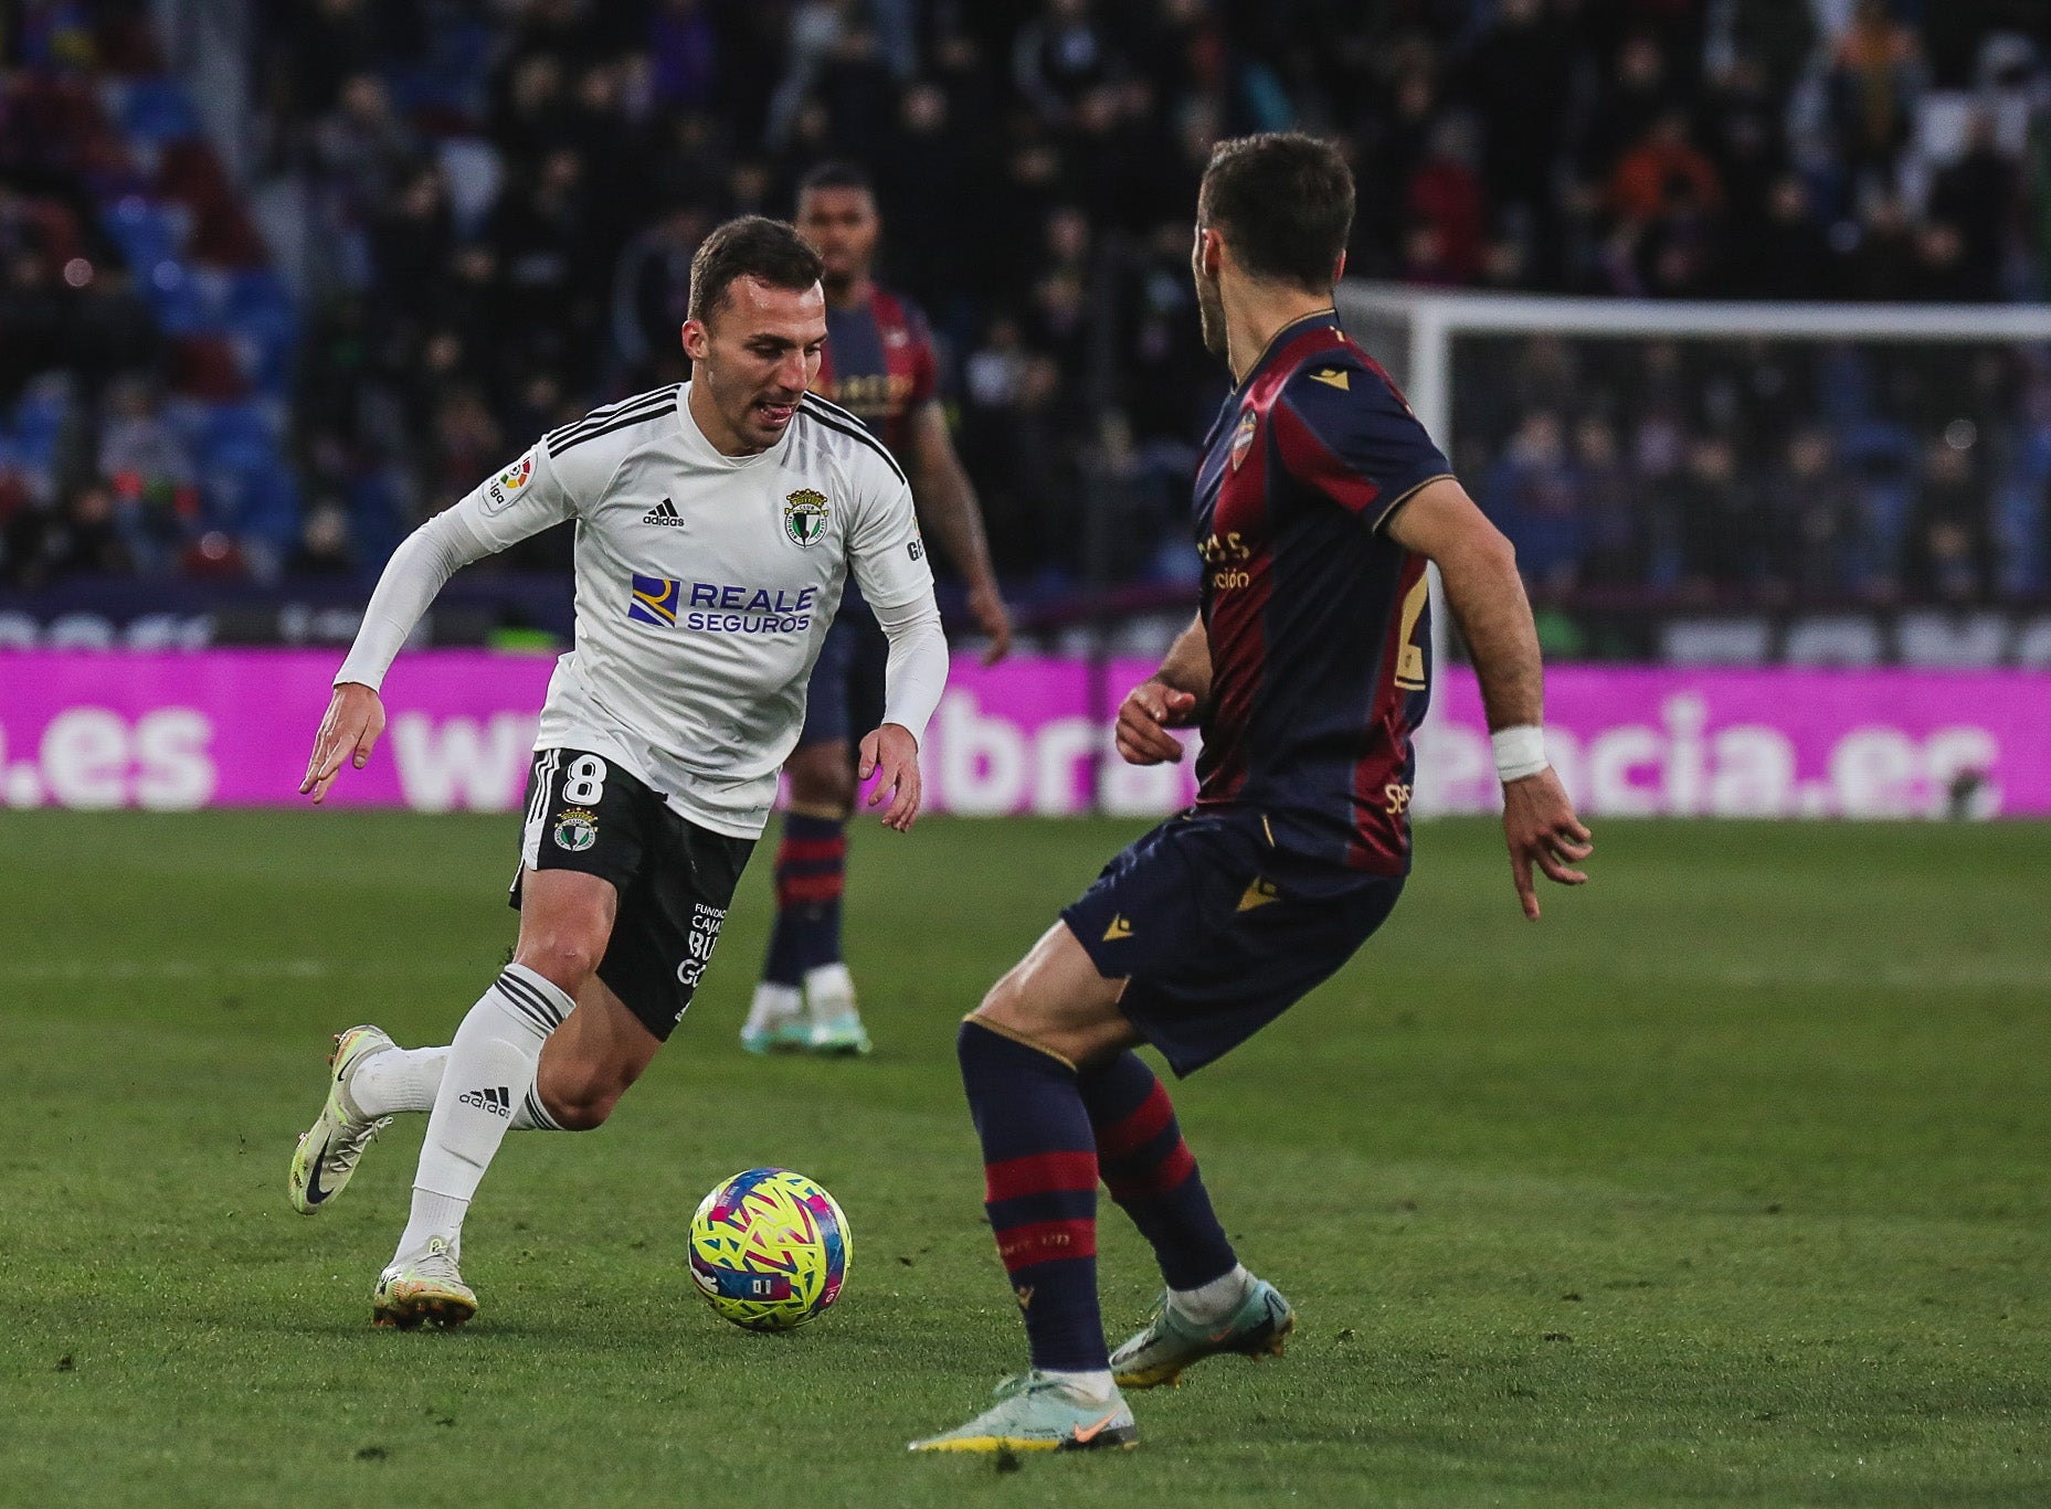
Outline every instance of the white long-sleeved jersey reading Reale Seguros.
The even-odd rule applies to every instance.
[[[576,648],[535,748],[589,748],[691,822],[761,834],[849,570],[890,636],[884,718],[923,738],[948,654],[898,463],[812,394],[767,451],[722,455],[689,392],[595,410],[423,525],[336,683],[379,687],[451,572],[574,519]]]

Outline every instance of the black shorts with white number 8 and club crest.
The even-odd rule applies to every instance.
[[[599,980],[667,1042],[712,960],[753,851],[753,839],[728,839],[679,818],[601,754],[544,748],[527,777],[513,906],[527,869],[576,869],[613,882],[619,912]]]

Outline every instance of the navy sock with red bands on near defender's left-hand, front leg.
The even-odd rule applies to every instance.
[[[974,1017],[958,1037],[984,1210],[1034,1368],[1110,1368],[1097,1312],[1097,1150],[1067,1060]]]

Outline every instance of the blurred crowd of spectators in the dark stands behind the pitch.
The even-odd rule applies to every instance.
[[[1188,244],[1222,135],[1345,141],[1350,271],[1374,279],[2051,287],[2037,0],[306,0],[250,6],[244,182],[166,76],[150,6],[16,10],[14,584],[375,570],[544,429],[681,379],[697,240],[788,215],[827,158],[876,178],[884,277],[941,336],[993,549],[1026,588],[1081,576],[1105,498],[1122,576],[1194,568],[1177,513],[1226,375]],[[1762,367],[1786,379],[1770,402]],[[1497,346],[1460,369],[1456,461],[1546,593],[2043,595],[2051,367],[2006,351],[1951,375]],[[1944,402],[1897,404],[1901,381]],[[1883,398],[1848,406],[1846,383]]]

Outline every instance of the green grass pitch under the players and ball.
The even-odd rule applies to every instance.
[[[863,826],[855,1064],[736,1046],[763,853],[613,1124],[507,1142],[480,1318],[371,1331],[420,1119],[316,1220],[287,1152],[328,1033],[445,1042],[492,976],[513,824],[0,814],[0,1503],[2051,1503],[2051,828],[1606,822],[1530,927],[1491,824],[1423,826],[1382,935],[1177,1091],[1288,1357],[1001,1472],[902,1450],[1021,1359],[954,1023],[1136,826]],[[759,1163],[855,1234],[790,1337],[683,1271]],[[1116,1341],[1110,1201],[1101,1273]]]

